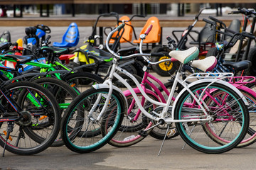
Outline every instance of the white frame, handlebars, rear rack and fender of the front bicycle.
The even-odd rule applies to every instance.
[[[114,33],[115,31],[116,30],[112,30],[112,32],[109,34],[109,36],[107,38],[107,48],[108,48],[108,41],[109,41],[112,33]],[[141,44],[142,44],[142,41],[141,41]],[[108,50],[110,50],[110,49],[108,49]],[[111,50],[110,50],[110,52],[111,52]],[[110,71],[109,79],[107,79],[103,84],[93,85],[93,88],[95,88],[95,89],[102,89],[102,88],[108,87],[110,90],[109,90],[108,95],[106,95],[106,96],[107,96],[107,101],[109,101],[110,97],[112,95],[112,91],[114,89],[117,89],[117,87],[113,86],[113,84],[112,84],[112,79],[114,77],[116,77],[122,84],[124,84],[124,86],[127,87],[127,89],[129,89],[129,91],[131,91],[131,94],[132,94],[134,100],[136,101],[137,106],[139,106],[139,109],[142,111],[142,113],[144,115],[146,115],[146,117],[150,118],[151,120],[156,120],[156,121],[164,120],[164,122],[167,123],[167,124],[169,124],[169,123],[196,122],[196,121],[212,120],[213,118],[211,118],[211,116],[208,115],[208,112],[206,111],[206,110],[210,111],[210,109],[208,108],[208,106],[206,105],[206,103],[202,99],[203,95],[205,95],[205,94],[201,93],[201,96],[195,96],[195,94],[193,94],[193,92],[190,89],[191,86],[195,86],[196,84],[201,84],[203,82],[207,82],[208,86],[210,86],[211,84],[213,84],[215,82],[218,82],[219,84],[222,84],[223,86],[228,86],[230,89],[233,89],[237,94],[239,94],[240,97],[242,98],[242,100],[247,104],[247,101],[246,101],[245,97],[242,95],[242,93],[238,89],[235,88],[235,86],[233,86],[232,84],[229,84],[228,82],[222,80],[222,79],[225,79],[225,78],[228,78],[228,77],[233,77],[233,73],[210,73],[210,74],[208,74],[208,73],[196,73],[196,74],[191,74],[187,79],[195,79],[195,78],[198,79],[198,77],[202,78],[202,79],[197,80],[197,81],[193,81],[193,83],[191,83],[191,84],[186,84],[186,80],[187,79],[186,80],[182,80],[182,79],[179,78],[180,75],[181,75],[180,70],[181,70],[182,64],[181,64],[180,69],[178,69],[178,72],[177,72],[176,77],[174,79],[174,84],[173,84],[173,86],[171,88],[171,92],[170,92],[169,98],[166,101],[166,103],[161,103],[159,101],[154,101],[153,99],[151,99],[149,96],[146,95],[145,91],[142,89],[142,86],[140,86],[139,81],[137,81],[137,79],[132,74],[130,74],[126,70],[118,67],[117,57],[119,57],[119,56],[117,54],[115,54],[114,52],[112,52],[112,55],[114,55],[114,59],[112,61],[113,64],[112,64],[112,69]],[[120,59],[122,59],[122,58],[130,58],[130,57],[142,56],[142,55],[150,56],[150,54],[135,54],[135,55],[129,55],[129,56],[119,57],[119,58]],[[170,59],[168,59],[168,60],[161,60],[160,62],[167,62],[167,61],[170,61]],[[151,64],[159,64],[159,62],[155,62],[155,63],[150,62],[150,63]],[[139,101],[139,98],[136,95],[135,91],[132,89],[132,86],[130,86],[127,83],[127,81],[125,81],[122,77],[120,77],[119,74],[117,74],[116,71],[122,72],[123,74],[127,75],[130,79],[132,79],[132,81],[134,81],[136,86],[139,88],[139,91],[142,93],[144,98],[146,98],[146,100],[148,100],[149,102],[155,104],[156,106],[163,107],[163,110],[161,111],[161,113],[156,113],[154,111],[153,111],[153,114],[152,113],[148,113],[144,109],[144,107],[142,106],[141,102]],[[215,76],[210,76],[210,75],[213,75],[213,74],[215,74]],[[172,106],[172,109],[171,109],[171,118],[166,118],[166,113],[169,111],[169,106],[171,106],[171,101],[172,101],[171,98],[172,98],[172,96],[174,96],[174,91],[175,91],[176,86],[177,86],[178,83],[180,83],[184,88],[178,94],[178,96],[176,97],[176,100],[174,101],[174,105]],[[208,86],[206,86],[206,89],[207,89]],[[206,89],[204,89],[204,91],[206,91]],[[195,115],[195,116],[193,116],[193,119],[192,118],[191,119],[184,119],[184,120],[175,120],[174,119],[174,110],[175,110],[174,108],[176,107],[176,103],[177,103],[179,97],[185,91],[188,91],[189,94],[191,94],[191,96],[194,98],[194,100],[196,101],[198,106],[200,106],[201,111],[203,111],[203,113],[206,115],[206,116],[204,116],[204,118],[202,118],[202,116],[200,116],[200,115]],[[94,111],[94,109],[96,108],[98,102],[100,102],[101,98],[102,98],[102,95],[100,95],[97,98],[97,101],[95,102],[94,106],[92,107],[92,110],[90,111],[90,113],[92,113],[92,111]],[[125,101],[125,102],[127,103],[127,101]],[[108,105],[108,102],[105,103],[104,107],[102,108],[102,111],[101,111],[100,115],[97,117],[97,120],[100,120],[102,114],[105,112],[105,108],[107,108],[107,105]]]

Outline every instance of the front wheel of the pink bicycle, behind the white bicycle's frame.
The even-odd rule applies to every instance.
[[[150,98],[152,98],[155,101],[159,101],[158,98],[151,94],[147,94]],[[142,94],[137,94],[140,101],[142,101]],[[140,112],[139,107],[137,106],[137,103],[133,102],[133,96],[129,95],[127,96],[128,106],[129,108],[132,108],[129,113],[124,114],[124,120],[122,121],[122,125],[120,126],[119,130],[117,131],[117,134],[114,135],[112,140],[110,140],[109,144],[114,147],[129,147],[134,144],[137,144],[138,142],[142,141],[147,135],[149,135],[149,132],[151,130],[146,131],[144,135],[139,135],[140,130],[147,130],[149,129],[154,123],[150,121],[149,118],[146,118],[146,116]],[[155,105],[150,103],[149,101],[144,101],[144,109],[150,113],[151,111],[154,111],[154,108],[156,108]],[[139,111],[139,113],[138,113]],[[139,115],[137,115],[139,114]],[[136,116],[139,116],[136,118]]]

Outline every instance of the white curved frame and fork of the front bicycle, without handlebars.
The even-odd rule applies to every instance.
[[[115,71],[116,70],[118,70],[119,72],[122,72],[123,74],[126,74],[128,77],[130,77],[133,81],[134,81],[134,83],[137,85],[137,88],[139,89],[139,91],[142,93],[142,95],[146,98],[146,100],[148,100],[149,102],[151,102],[151,103],[153,103],[153,104],[156,104],[157,106],[162,106],[162,107],[164,107],[164,110],[162,111],[162,113],[155,113],[155,112],[153,112],[154,113],[154,115],[157,115],[159,118],[156,118],[154,115],[151,115],[151,114],[149,114],[144,108],[143,108],[143,106],[142,106],[142,104],[141,104],[141,102],[139,101],[139,98],[137,97],[137,95],[136,95],[136,93],[135,93],[135,91],[134,91],[134,89],[132,89],[132,86],[130,86],[124,79],[122,79],[122,77],[120,77]],[[196,78],[198,78],[198,74],[196,74],[197,76],[196,76]],[[203,74],[204,76],[206,75],[206,74]],[[227,74],[221,74],[222,75],[222,77],[223,77],[223,79],[224,78],[226,78],[226,77],[224,77],[224,75],[227,75]],[[233,74],[229,74],[231,77],[233,76]],[[125,71],[125,70],[123,70],[123,69],[121,69],[121,68],[119,68],[118,66],[117,66],[117,64],[113,64],[113,66],[112,66],[112,70],[111,70],[111,72],[110,72],[110,79],[107,79],[105,82],[104,82],[104,84],[107,84],[107,86],[109,86],[110,87],[110,91],[109,91],[109,94],[108,94],[108,96],[107,96],[107,100],[110,98],[110,95],[111,95],[111,93],[112,93],[112,91],[113,91],[113,85],[112,85],[112,81],[111,81],[111,79],[113,78],[113,77],[116,77],[117,79],[119,79],[119,81],[121,81],[123,84],[124,84],[124,86],[126,86],[127,87],[127,89],[129,89],[129,91],[131,91],[131,94],[132,94],[132,96],[134,97],[134,100],[136,101],[136,103],[137,103],[137,105],[139,106],[139,109],[142,111],[142,113],[144,113],[144,115],[146,115],[146,117],[148,117],[148,118],[151,118],[152,120],[156,120],[156,121],[159,121],[160,119],[164,119],[165,121],[166,121],[166,123],[180,123],[180,122],[194,122],[194,121],[208,121],[208,120],[210,120],[210,117],[208,117],[208,113],[206,112],[206,110],[204,110],[203,109],[203,112],[206,114],[206,117],[207,118],[204,118],[204,119],[193,119],[193,120],[174,120],[174,109],[172,109],[172,111],[171,111],[171,118],[164,118],[164,116],[165,116],[165,114],[167,113],[167,111],[169,110],[169,106],[170,106],[170,104],[171,104],[171,98],[172,98],[172,96],[174,96],[174,90],[175,90],[175,88],[174,87],[176,87],[176,85],[178,84],[178,83],[180,83],[180,84],[182,84],[183,85],[183,87],[184,87],[184,89],[183,89],[183,91],[188,91],[193,97],[194,97],[194,99],[196,100],[196,103],[198,104],[198,106],[200,106],[201,108],[203,108],[203,106],[206,106],[206,103],[204,103],[203,102],[203,100],[202,100],[202,98],[203,98],[203,96],[201,95],[201,96],[199,96],[199,98],[197,98],[193,93],[192,93],[192,91],[189,89],[189,87],[191,86],[191,84],[189,84],[189,85],[187,85],[186,84],[186,81],[183,81],[182,79],[179,79],[178,77],[180,76],[180,73],[178,73],[178,75],[176,76],[176,78],[174,79],[174,85],[173,85],[173,87],[172,87],[172,89],[171,89],[171,92],[170,92],[170,95],[169,95],[169,98],[168,98],[168,100],[166,101],[166,103],[161,103],[161,102],[159,102],[159,101],[154,101],[153,99],[151,99],[149,96],[147,96],[146,95],[146,93],[145,93],[145,91],[142,89],[142,86],[140,86],[140,84],[139,84],[139,81],[137,81],[137,79],[135,78],[135,77],[133,77],[132,76],[132,74],[129,74],[129,72],[127,72],[127,71]],[[191,77],[189,77],[188,79],[193,79],[193,78],[195,78],[194,76],[191,76]],[[213,84],[215,81],[219,81],[219,82],[221,82],[221,83],[223,83],[223,84],[228,84],[227,82],[225,82],[225,81],[220,81],[220,79],[215,79],[215,77],[210,77],[210,74],[209,74],[209,76],[207,77],[207,78],[212,78],[212,79],[210,79],[210,81],[209,81],[209,79],[206,79],[208,82],[210,82],[210,84]],[[202,80],[203,81],[203,80]],[[200,82],[202,82],[202,81],[200,81]],[[192,83],[192,85],[194,85],[195,83]],[[210,86],[210,84],[208,85],[208,86]],[[95,85],[95,86],[93,86],[95,89],[100,89],[100,87],[102,86],[102,84],[97,84],[97,85]],[[235,89],[235,88],[233,88],[233,89]],[[239,93],[239,92],[238,92]],[[182,94],[182,93],[181,93]],[[181,96],[181,95],[179,95],[179,96]],[[178,96],[178,97],[179,97]],[[102,96],[100,96],[100,97],[102,97]],[[99,98],[100,98],[99,97]],[[177,98],[178,98],[177,97]],[[242,96],[241,96],[241,98],[242,98]],[[178,100],[176,100],[176,101],[178,101]],[[97,103],[97,102],[96,102]],[[174,102],[174,106],[173,106],[173,108],[175,108],[175,104],[176,104],[176,102]],[[105,106],[104,107],[107,107],[107,103],[105,103]],[[104,109],[102,109],[102,111],[104,111]],[[103,112],[102,112],[103,113]],[[99,115],[99,117],[97,118],[97,120],[100,120],[100,116],[102,115],[102,113],[100,113],[100,115]]]

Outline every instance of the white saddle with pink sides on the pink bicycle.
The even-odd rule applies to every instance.
[[[201,69],[203,72],[210,72],[217,64],[217,59],[214,56],[206,57],[203,60],[193,60],[192,66]]]

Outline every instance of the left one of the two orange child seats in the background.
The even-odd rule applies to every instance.
[[[122,16],[119,20],[120,21],[129,21],[129,17],[128,16]],[[132,25],[131,21],[129,22],[126,22],[127,24],[129,25]],[[120,25],[121,23],[119,23]],[[117,27],[117,26],[116,26]],[[115,32],[113,35],[112,35],[112,39],[110,39],[110,44],[114,43],[114,38],[117,37],[117,32]],[[122,30],[121,32],[122,33]],[[122,38],[120,38],[119,42],[120,43],[124,43],[124,42],[131,42],[132,41],[132,27],[131,26],[127,26],[125,25],[124,26],[124,33],[122,34]]]

